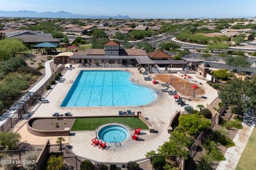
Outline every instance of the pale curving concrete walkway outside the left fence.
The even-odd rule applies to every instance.
[[[44,78],[39,81],[33,88],[31,88],[25,95],[23,95],[13,106],[11,106],[8,111],[6,111],[0,117],[0,125],[4,124],[8,118],[12,117],[13,114],[29,99],[31,95],[34,94],[50,77],[52,74],[50,63],[53,60],[47,61],[45,63],[45,76]]]

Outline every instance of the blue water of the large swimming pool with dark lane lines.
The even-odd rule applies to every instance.
[[[81,71],[61,107],[140,106],[151,103],[153,90],[130,81],[124,71]]]

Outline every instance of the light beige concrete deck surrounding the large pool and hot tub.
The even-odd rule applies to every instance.
[[[141,137],[141,141],[131,140],[129,137],[122,143],[122,146],[110,146],[107,150],[100,150],[98,147],[91,146],[91,139],[95,138],[95,131],[75,131],[71,132],[68,138],[70,145],[73,147],[73,151],[78,156],[94,159],[100,162],[129,162],[130,160],[137,160],[145,158],[145,154],[150,150],[157,150],[157,148],[163,145],[164,141],[167,141],[170,134],[167,133],[167,126],[170,123],[170,118],[174,115],[177,109],[184,111],[184,107],[179,106],[175,103],[173,96],[167,93],[162,93],[161,89],[165,89],[160,84],[153,84],[152,81],[144,81],[145,75],[139,74],[137,68],[78,68],[75,65],[75,69],[68,70],[63,78],[66,79],[63,83],[57,83],[53,89],[46,93],[46,99],[50,101],[47,104],[37,105],[34,108],[35,113],[32,117],[47,117],[52,116],[53,113],[59,112],[64,114],[70,112],[74,116],[110,116],[118,115],[118,111],[131,110],[132,112],[141,112],[143,116],[147,117],[154,129],[158,133],[149,133],[148,130],[142,130],[144,133]],[[157,98],[153,103],[144,106],[111,106],[111,107],[74,107],[66,108],[60,107],[63,99],[66,97],[70,87],[73,83],[70,80],[75,81],[79,71],[81,70],[123,70],[132,73],[132,79],[142,86],[149,87],[154,91],[157,91]],[[207,103],[210,104],[218,96],[217,91],[210,87],[205,81],[195,78],[194,80],[201,82],[205,89],[205,99],[199,101],[186,101],[196,108],[196,105]],[[21,128],[23,130],[23,127]],[[18,131],[19,132],[19,131]],[[25,133],[25,132],[22,132]],[[28,132],[27,132],[28,133]],[[23,137],[26,137],[24,134]],[[22,138],[23,138],[22,137]],[[50,137],[49,137],[50,138]],[[24,139],[23,139],[24,140]],[[27,140],[30,142],[29,140]],[[33,142],[36,145],[36,142]],[[38,144],[39,145],[39,144]]]

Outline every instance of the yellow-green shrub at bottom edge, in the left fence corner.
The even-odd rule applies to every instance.
[[[63,169],[63,157],[56,157],[55,155],[51,155],[47,161],[47,170],[62,170]]]

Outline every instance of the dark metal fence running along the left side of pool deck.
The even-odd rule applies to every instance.
[[[14,127],[14,125],[18,123],[22,116],[28,113],[29,108],[33,106],[33,104],[38,100],[39,96],[43,94],[46,86],[50,85],[55,76],[58,73],[61,73],[63,69],[65,69],[65,65],[61,65],[36,92],[31,94],[28,92],[26,95],[28,95],[29,98],[17,109],[16,112],[14,112],[13,116],[7,118],[4,124],[0,126],[0,132],[9,132]],[[3,116],[4,115],[2,115],[2,117]]]

